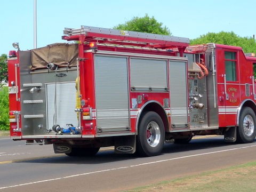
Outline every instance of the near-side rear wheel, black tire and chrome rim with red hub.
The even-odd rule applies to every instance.
[[[161,154],[164,147],[164,124],[162,118],[155,112],[145,113],[139,123],[136,142],[137,153],[141,156]]]

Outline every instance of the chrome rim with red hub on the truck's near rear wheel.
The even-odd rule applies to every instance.
[[[146,129],[146,138],[150,147],[156,147],[160,142],[160,127],[156,122],[150,122]]]

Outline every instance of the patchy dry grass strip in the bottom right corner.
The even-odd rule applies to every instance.
[[[250,192],[256,191],[256,162],[190,175],[135,188],[129,192]],[[127,192],[128,192],[127,191]]]

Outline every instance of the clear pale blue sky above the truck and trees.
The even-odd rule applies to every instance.
[[[234,31],[256,35],[255,4],[244,1],[204,0],[37,0],[37,47],[61,40],[65,27],[81,25],[112,28],[147,13],[174,36],[196,38],[208,32]],[[0,55],[34,47],[34,0],[3,0],[0,11]]]

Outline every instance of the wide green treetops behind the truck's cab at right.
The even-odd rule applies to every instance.
[[[206,35],[201,35],[198,38],[191,39],[190,44],[204,44],[204,43],[218,43],[224,45],[233,45],[242,47],[244,52],[256,53],[256,43],[255,39],[252,37],[240,37],[236,35],[233,31],[219,33],[207,33]]]

